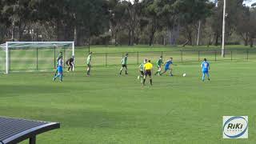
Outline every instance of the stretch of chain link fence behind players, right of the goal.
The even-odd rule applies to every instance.
[[[120,65],[126,53],[97,53],[92,56],[94,66],[114,66]],[[222,58],[222,50],[173,50],[173,51],[154,51],[154,52],[128,52],[128,64],[139,64],[145,58],[156,62],[160,56],[164,60],[174,58],[175,62],[201,62],[203,58],[209,61],[233,61],[256,59],[256,50],[253,49],[233,49],[225,50],[225,57]],[[79,58],[76,55],[76,66],[85,65],[86,56]]]

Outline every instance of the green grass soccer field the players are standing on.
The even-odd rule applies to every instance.
[[[1,74],[0,115],[61,122],[38,136],[41,144],[255,143],[254,63],[210,62],[210,82],[201,81],[200,62],[178,63],[154,86],[141,86],[135,65],[122,76],[120,66],[96,66],[90,78],[80,68],[64,82],[52,82],[53,73]],[[248,115],[249,139],[223,139],[224,115]]]

